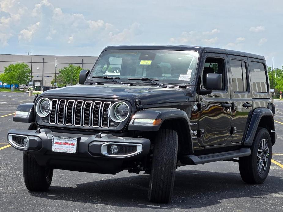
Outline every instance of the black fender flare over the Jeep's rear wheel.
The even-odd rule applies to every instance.
[[[244,145],[248,145],[250,146],[252,144],[252,142],[254,141],[255,138],[255,133],[256,130],[259,126],[259,122],[262,119],[262,117],[268,117],[268,119],[271,119],[272,124],[269,125],[269,130],[270,131],[270,137],[272,139],[272,143],[275,143],[276,140],[276,133],[275,132],[271,132],[275,130],[274,127],[274,119],[273,119],[273,113],[270,109],[268,108],[256,108],[254,109],[252,115],[251,115],[251,120],[250,123],[248,125],[248,130],[244,139]]]

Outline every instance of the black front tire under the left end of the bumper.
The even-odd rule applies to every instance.
[[[23,153],[24,184],[29,191],[47,191],[50,187],[53,169],[39,166],[32,154]]]

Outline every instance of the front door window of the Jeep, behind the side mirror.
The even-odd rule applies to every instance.
[[[206,89],[207,74],[222,74],[222,90],[225,90],[225,63],[221,58],[208,57],[203,68],[203,86]]]

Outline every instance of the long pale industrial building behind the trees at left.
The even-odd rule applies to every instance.
[[[58,69],[69,64],[77,65],[83,69],[91,69],[97,57],[88,56],[50,56],[50,55],[15,55],[0,54],[0,74],[4,73],[4,67],[10,64],[26,63],[31,68],[32,82],[34,86],[51,86],[50,82],[55,75],[55,58],[57,58]]]

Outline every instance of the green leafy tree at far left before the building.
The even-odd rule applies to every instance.
[[[28,64],[16,63],[4,67],[4,73],[0,75],[0,80],[7,84],[27,84],[30,81],[31,69]]]

